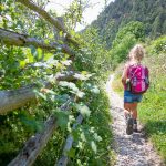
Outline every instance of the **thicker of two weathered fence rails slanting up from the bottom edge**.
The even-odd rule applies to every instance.
[[[69,111],[70,103],[72,101],[73,98],[70,98],[60,107],[60,110]],[[32,136],[25,143],[25,146],[22,148],[19,155],[8,166],[31,166],[40,152],[46,145],[56,127],[56,118],[54,115],[51,115],[44,124],[44,129],[41,133],[37,133],[34,136]]]

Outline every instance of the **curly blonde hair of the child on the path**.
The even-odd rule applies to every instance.
[[[129,52],[129,59],[136,62],[141,62],[144,58],[145,50],[141,44],[136,44]]]

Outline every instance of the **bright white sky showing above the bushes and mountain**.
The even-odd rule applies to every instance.
[[[54,9],[59,15],[64,12],[64,9],[70,6],[73,0],[50,0],[50,4],[48,4],[46,9]],[[86,24],[90,24],[93,20],[97,18],[100,12],[104,9],[105,0],[89,0],[90,8],[87,8],[83,12],[83,20]],[[107,3],[114,0],[107,0]],[[77,24],[76,31],[83,29],[85,24]]]

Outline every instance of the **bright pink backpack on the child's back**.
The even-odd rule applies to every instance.
[[[145,93],[149,86],[148,69],[138,65],[129,65],[127,70],[127,77],[129,79],[131,92],[135,94]]]

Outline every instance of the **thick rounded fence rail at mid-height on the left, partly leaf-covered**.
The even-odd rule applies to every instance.
[[[75,72],[66,72],[66,73],[58,73],[54,76],[54,81],[74,81]],[[52,84],[46,82],[43,84],[43,87],[51,89]],[[37,89],[37,85],[29,85],[25,87],[21,87],[19,90],[10,90],[10,91],[0,91],[0,115],[7,114],[15,108],[19,108],[25,105],[28,102],[35,100],[35,93],[33,90]]]

